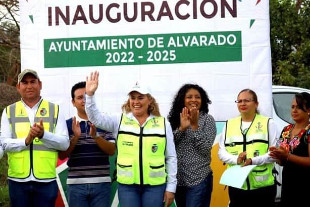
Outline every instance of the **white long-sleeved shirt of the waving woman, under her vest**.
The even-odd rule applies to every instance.
[[[109,114],[109,113],[100,113],[94,96],[88,96],[85,94],[85,109],[88,116],[88,120],[91,121],[96,127],[113,132],[115,139],[117,139],[118,129],[121,122],[122,114]],[[132,113],[127,113],[127,117],[134,119],[137,123],[139,121],[134,117]],[[146,119],[141,127],[143,127],[147,120],[153,117],[152,114]],[[173,134],[170,126],[170,122],[166,119],[166,138],[167,138],[167,147],[165,151],[166,158],[166,171],[167,171],[167,186],[166,191],[175,192],[177,186],[177,154],[175,150],[175,145],[173,142]]]

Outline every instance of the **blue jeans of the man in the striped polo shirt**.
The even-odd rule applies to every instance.
[[[111,187],[109,183],[68,184],[70,207],[109,207]]]

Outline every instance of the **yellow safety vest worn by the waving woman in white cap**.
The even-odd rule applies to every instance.
[[[117,181],[122,184],[166,183],[165,118],[153,117],[144,127],[122,114],[117,137]]]

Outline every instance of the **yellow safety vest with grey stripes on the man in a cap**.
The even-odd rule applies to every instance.
[[[59,107],[56,104],[42,100],[34,122],[43,119],[44,131],[55,132]],[[31,124],[27,111],[21,101],[6,108],[13,139],[23,139],[28,136]],[[56,163],[58,152],[47,148],[39,138],[35,138],[28,149],[20,152],[8,152],[8,176],[11,178],[27,178],[32,169],[37,179],[56,178]]]

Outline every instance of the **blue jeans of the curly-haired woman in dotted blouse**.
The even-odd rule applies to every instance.
[[[198,185],[177,186],[175,200],[178,207],[209,207],[213,190],[212,172]]]

